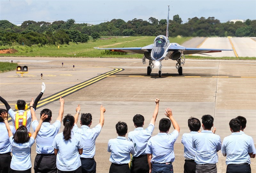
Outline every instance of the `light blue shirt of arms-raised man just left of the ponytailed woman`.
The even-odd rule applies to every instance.
[[[38,121],[32,122],[32,128],[35,132],[38,126]],[[52,143],[54,137],[58,134],[60,130],[60,121],[56,120],[53,124],[49,122],[43,122],[42,126],[36,136],[36,153],[37,154],[54,154],[54,148]]]

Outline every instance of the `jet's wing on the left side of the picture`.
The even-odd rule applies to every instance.
[[[127,52],[127,53],[132,53],[132,54],[144,54],[145,52],[151,52],[152,47],[153,47],[153,44],[145,46],[145,47],[120,47],[120,48],[99,48],[99,47],[95,47],[95,49],[110,50],[112,52]]]

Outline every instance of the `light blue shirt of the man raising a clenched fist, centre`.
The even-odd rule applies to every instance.
[[[145,130],[143,129],[143,127],[137,127],[134,131],[128,133],[128,141],[132,141],[134,144],[134,157],[146,154],[146,146],[148,140],[151,138],[154,127],[154,124],[150,123],[148,128],[146,128]]]

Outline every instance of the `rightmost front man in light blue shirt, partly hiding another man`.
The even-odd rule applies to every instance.
[[[231,119],[229,122],[232,134],[224,138],[221,153],[226,158],[227,172],[251,173],[251,158],[255,158],[255,147],[252,145],[248,135],[240,132],[241,122],[238,119]]]

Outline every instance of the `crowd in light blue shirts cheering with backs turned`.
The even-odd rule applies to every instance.
[[[76,125],[80,114],[80,105],[76,114],[67,114],[63,118],[65,101],[60,97],[59,115],[54,123],[52,111],[43,109],[40,120],[36,118],[36,106],[45,90],[28,105],[24,100],[18,100],[14,112],[4,98],[6,109],[0,109],[0,173],[31,173],[31,146],[36,142],[35,173],[95,173],[96,162],[95,141],[104,125],[104,112],[100,106],[100,122],[91,128],[92,115],[82,113],[81,128]],[[159,121],[159,133],[152,137],[158,115],[159,99],[155,100],[156,107],[150,124],[144,126],[144,117],[136,114],[133,117],[135,130],[128,133],[125,122],[116,124],[116,139],[108,141],[107,151],[111,153],[109,173],[172,173],[174,143],[180,133],[180,126],[172,115],[170,108],[165,109],[165,116]],[[13,126],[9,126],[8,114]],[[63,132],[59,133],[61,121]],[[217,152],[226,156],[227,173],[251,173],[251,158],[255,158],[256,149],[252,137],[244,133],[246,119],[238,116],[231,119],[229,127],[231,135],[221,142],[215,134],[213,117],[202,116],[202,128],[199,119],[190,117],[188,128],[190,133],[182,135],[184,145],[184,173],[217,173]],[[29,133],[32,125],[33,134]],[[174,130],[169,133],[171,125]],[[128,133],[128,139],[125,137]],[[132,157],[131,157],[132,155]],[[130,164],[129,164],[130,163]]]

